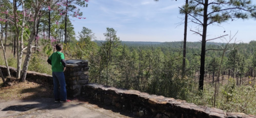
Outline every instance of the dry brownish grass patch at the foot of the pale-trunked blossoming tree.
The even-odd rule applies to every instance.
[[[12,86],[3,86],[3,80],[0,80],[0,99],[11,101],[13,99],[34,99],[43,97],[53,97],[53,86],[41,85],[26,81],[19,83],[15,79]]]

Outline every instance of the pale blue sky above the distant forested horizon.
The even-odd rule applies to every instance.
[[[85,27],[95,33],[97,40],[105,40],[103,33],[107,28],[114,28],[121,41],[183,41],[184,24],[179,24],[185,15],[179,14],[178,7],[184,3],[182,0],[90,0],[88,7],[81,8],[82,17],[86,19],[71,18],[71,21],[76,35]],[[187,41],[201,41],[202,37],[190,29],[195,31],[196,25],[188,23]],[[236,41],[256,40],[256,20],[234,20],[220,26],[208,26],[207,39],[230,35],[230,32],[233,36],[237,31]],[[217,39],[211,42],[226,41]]]

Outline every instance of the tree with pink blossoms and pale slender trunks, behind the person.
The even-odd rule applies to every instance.
[[[68,10],[70,12],[73,12],[73,16],[81,16],[82,13],[79,12],[79,9],[75,7],[75,5],[69,5],[72,2],[74,3],[79,3],[78,5],[82,6],[85,5],[85,2],[88,2],[87,0],[85,1],[70,1],[68,4],[65,4],[65,1],[63,0],[50,0],[50,1],[41,1],[41,0],[33,0],[33,1],[28,1],[28,0],[21,0],[21,1],[13,1],[12,3],[10,1],[4,0],[8,6],[11,7],[11,12],[8,14],[11,16],[10,18],[12,19],[6,19],[5,17],[0,16],[0,20],[5,20],[9,21],[15,26],[15,34],[16,34],[16,41],[17,41],[17,78],[20,78],[21,81],[26,80],[26,75],[27,75],[27,69],[28,69],[28,63],[31,57],[31,49],[32,48],[37,48],[34,46],[33,41],[39,40],[40,36],[36,35],[38,34],[38,21],[49,11],[56,11],[60,12],[60,14],[68,14]],[[26,3],[26,4],[25,4]],[[67,2],[66,2],[67,3]],[[65,6],[72,6],[70,9],[66,8],[66,11],[63,10]],[[6,13],[7,14],[7,13]],[[78,17],[81,19],[81,17]],[[50,19],[49,19],[50,21]],[[50,24],[50,23],[49,23]],[[26,27],[30,29],[30,33],[26,32]],[[49,26],[50,29],[50,26]],[[50,30],[49,30],[50,31]],[[23,35],[26,35],[28,37],[28,45],[27,47],[23,46]],[[49,34],[50,37],[50,34]],[[53,37],[49,38],[53,41]],[[26,50],[26,58],[23,63],[23,67],[21,70],[21,62],[22,62],[22,56],[23,56],[23,51]]]

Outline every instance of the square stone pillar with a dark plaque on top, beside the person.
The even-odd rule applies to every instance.
[[[89,83],[89,67],[87,60],[67,60],[64,71],[66,79],[67,96],[81,95],[82,86]]]

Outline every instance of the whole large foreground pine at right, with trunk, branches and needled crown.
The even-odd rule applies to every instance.
[[[188,15],[191,16],[191,22],[197,24],[203,30],[202,33],[200,31],[190,30],[202,37],[199,90],[203,90],[204,86],[206,41],[224,36],[222,35],[218,38],[206,40],[207,26],[218,25],[236,18],[247,19],[249,18],[249,14],[247,13],[254,13],[255,8],[255,6],[251,5],[250,0],[190,0],[188,5],[184,5],[180,8],[181,13],[188,13]]]

